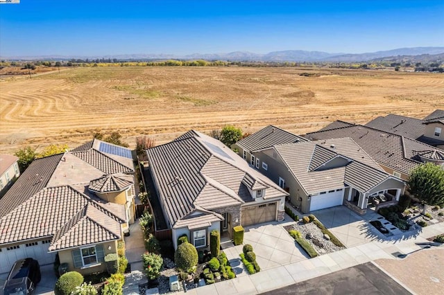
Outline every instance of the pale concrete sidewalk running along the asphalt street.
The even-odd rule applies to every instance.
[[[387,240],[373,240],[367,244],[359,244],[356,247],[316,258],[266,269],[250,276],[241,275],[232,280],[190,289],[187,294],[259,294],[310,278],[330,274],[340,269],[360,265],[364,262],[381,258],[400,259],[398,258],[399,253],[408,254],[423,249],[424,246],[419,246],[416,243],[428,242],[427,238],[440,233],[444,233],[444,222],[427,226],[418,235],[391,237],[391,239]],[[441,245],[440,249],[444,251],[444,246]]]

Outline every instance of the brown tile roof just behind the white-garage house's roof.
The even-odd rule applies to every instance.
[[[377,163],[407,175],[421,163],[416,151],[437,150],[411,138],[363,125],[311,132],[305,136],[313,140],[350,137]]]

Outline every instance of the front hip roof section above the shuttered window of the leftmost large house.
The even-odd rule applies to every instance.
[[[119,222],[89,203],[56,231],[49,251],[81,247],[119,238],[121,238]]]

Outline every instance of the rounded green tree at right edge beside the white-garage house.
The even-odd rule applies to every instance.
[[[441,166],[426,163],[414,168],[407,185],[410,193],[422,202],[422,214],[425,214],[427,205],[444,205],[444,170]]]

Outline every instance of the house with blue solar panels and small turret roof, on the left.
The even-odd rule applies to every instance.
[[[31,257],[69,270],[105,270],[103,258],[135,220],[131,151],[94,139],[36,159],[0,199],[0,273]]]

